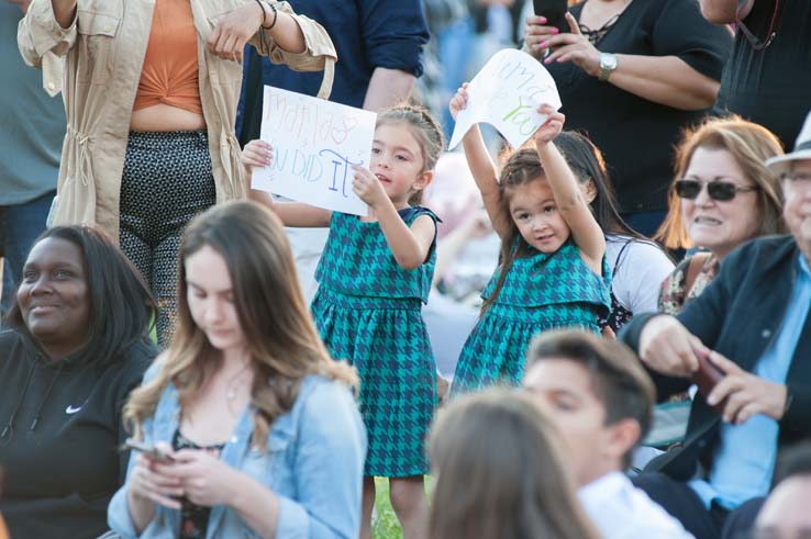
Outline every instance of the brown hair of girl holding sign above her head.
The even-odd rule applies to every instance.
[[[546,181],[546,172],[544,172],[544,166],[541,164],[541,158],[535,148],[527,146],[510,154],[499,176],[501,214],[507,216],[506,226],[508,228],[507,234],[501,238],[501,252],[499,252],[501,273],[498,281],[496,281],[492,294],[481,305],[482,313],[496,303],[515,257],[523,257],[530,252],[530,246],[521,237],[518,226],[510,215],[510,198],[515,187],[525,186],[533,181]]]

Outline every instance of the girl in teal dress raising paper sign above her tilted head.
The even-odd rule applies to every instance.
[[[456,117],[467,105],[467,85],[451,101]],[[463,138],[465,156],[501,237],[501,265],[485,289],[482,313],[456,364],[452,394],[496,383],[518,385],[534,335],[558,327],[598,332],[610,310],[606,238],[565,158],[553,144],[564,115],[552,106],[501,175],[477,125]]]

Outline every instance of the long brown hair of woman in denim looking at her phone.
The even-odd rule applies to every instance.
[[[155,413],[169,383],[178,390],[180,406],[189,405],[222,364],[221,352],[195,324],[187,299],[184,261],[205,246],[223,257],[231,274],[255,374],[253,442],[264,450],[270,425],[292,407],[307,374],[348,385],[356,385],[357,377],[326,352],[301,295],[285,229],[276,215],[253,202],[212,207],[186,229],[179,254],[177,328],[158,374],[130,395],[124,422],[140,438],[143,422]]]

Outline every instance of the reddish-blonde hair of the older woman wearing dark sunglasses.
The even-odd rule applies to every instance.
[[[746,178],[758,187],[757,209],[762,212],[756,236],[782,234],[782,192],[779,178],[766,167],[766,159],[782,155],[780,141],[766,127],[741,116],[709,119],[686,130],[676,150],[676,176],[667,194],[667,216],[653,238],[668,249],[692,247],[681,216],[681,199],[676,194],[676,181],[685,177],[698,148],[725,149],[735,158]]]

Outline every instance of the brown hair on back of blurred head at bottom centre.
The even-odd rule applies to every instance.
[[[553,425],[526,395],[469,394],[429,436],[436,487],[429,539],[591,539]]]

